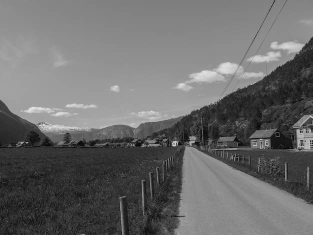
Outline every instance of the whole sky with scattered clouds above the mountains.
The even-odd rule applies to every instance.
[[[0,100],[35,124],[137,127],[189,114],[313,36],[312,0],[272,3],[1,0]]]

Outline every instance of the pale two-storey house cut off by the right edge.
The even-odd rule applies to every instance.
[[[296,146],[299,149],[313,149],[313,114],[302,116],[292,126],[295,129]]]

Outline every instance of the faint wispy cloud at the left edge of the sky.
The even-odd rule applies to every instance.
[[[10,67],[15,67],[27,55],[36,53],[38,50],[33,39],[20,37],[16,42],[4,38],[0,40],[0,59]]]

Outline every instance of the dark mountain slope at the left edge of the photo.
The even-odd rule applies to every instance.
[[[12,113],[0,100],[0,145],[24,141],[29,130],[36,131],[41,139],[46,137],[35,124]]]

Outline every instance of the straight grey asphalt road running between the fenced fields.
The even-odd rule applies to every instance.
[[[178,235],[313,234],[313,205],[186,147]]]

